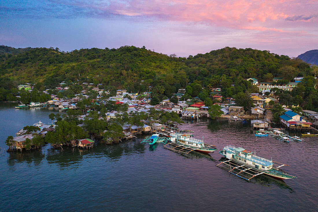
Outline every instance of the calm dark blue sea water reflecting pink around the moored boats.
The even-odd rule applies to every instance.
[[[0,104],[1,211],[317,211],[318,138],[283,143],[255,138],[250,124],[227,120],[186,123],[195,138],[222,149],[243,146],[288,164],[297,179],[258,176],[243,180],[210,155],[181,155],[136,138],[93,149],[46,145],[32,152],[4,152],[4,141],[25,125],[49,123],[53,108],[14,109]],[[294,135],[294,133],[290,133]]]

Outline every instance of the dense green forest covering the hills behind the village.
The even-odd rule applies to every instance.
[[[315,68],[300,59],[251,48],[225,47],[187,58],[135,46],[72,52],[60,52],[52,47],[14,49],[2,46],[2,49],[5,50],[0,51],[0,101],[16,100],[19,84],[33,83],[35,90],[43,90],[55,88],[65,81],[64,86],[69,86],[69,90],[56,95],[71,97],[80,93],[81,83],[88,82],[95,85],[101,83],[100,88],[112,92],[120,88],[126,88],[128,92],[151,91],[152,97],[158,98],[158,101],[170,99],[179,88],[186,88],[183,98],[198,97],[195,102],[198,99],[205,101],[211,88],[222,88],[221,95],[225,97],[234,97],[241,92],[256,93],[258,88],[245,80],[250,77],[259,82],[283,77],[282,83],[292,81],[296,76],[310,78],[318,74],[318,70],[314,71]],[[283,92],[281,99],[284,103],[318,109],[315,86],[309,86],[315,85],[316,80],[309,78],[305,84],[298,86],[297,92]],[[93,97],[94,92],[91,95]],[[158,102],[156,98],[152,104]]]

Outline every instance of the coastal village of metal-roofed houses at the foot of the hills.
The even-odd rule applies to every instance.
[[[253,128],[256,129],[269,129],[271,120],[271,111],[270,109],[275,104],[279,104],[275,92],[273,89],[281,89],[291,91],[303,77],[295,77],[293,82],[287,84],[279,84],[279,81],[282,78],[275,77],[272,82],[259,82],[255,78],[246,79],[250,81],[252,85],[255,85],[259,88],[259,93],[251,93],[250,97],[253,100],[253,106],[249,110],[244,110],[244,107],[237,106],[235,99],[231,97],[224,97],[221,95],[221,88],[211,88],[210,98],[213,101],[213,105],[218,105],[220,118],[228,118],[229,120],[245,120],[251,119],[251,124]],[[127,114],[150,114],[151,110],[158,112],[174,112],[179,115],[182,119],[199,119],[199,118],[210,118],[209,109],[211,107],[206,106],[204,101],[200,100],[198,97],[194,99],[185,99],[186,89],[178,89],[172,97],[176,97],[177,101],[171,102],[169,99],[163,99],[157,104],[151,105],[151,89],[149,86],[149,91],[142,94],[137,93],[128,93],[126,89],[118,89],[114,96],[109,96],[111,91],[105,90],[102,84],[93,84],[88,82],[83,82],[81,84],[82,91],[80,94],[76,94],[73,98],[59,98],[58,95],[51,94],[51,100],[47,102],[31,102],[30,105],[19,105],[16,108],[24,107],[58,107],[59,111],[67,110],[79,110],[78,101],[83,99],[89,99],[89,94],[91,91],[96,92],[95,99],[89,99],[93,104],[85,105],[85,110],[83,114],[77,116],[80,124],[79,127],[83,127],[82,121],[94,111],[94,105],[107,104],[111,103],[114,105],[126,104],[127,105]],[[19,85],[18,89],[24,89],[28,92],[32,91],[31,84]],[[59,87],[55,88],[59,92],[69,89],[66,83],[63,81],[59,84]],[[46,89],[43,92],[48,94]],[[104,98],[107,96],[107,98]],[[19,97],[19,96],[17,96]],[[171,97],[171,98],[172,98]],[[92,106],[93,105],[93,106]],[[297,106],[292,106],[297,107]],[[293,112],[290,107],[283,106],[285,112],[280,116],[280,124],[282,128],[287,128],[290,130],[297,131],[310,131],[318,129],[318,113],[310,110],[303,110],[302,114],[297,114]],[[99,114],[98,111],[97,114]],[[116,119],[116,117],[121,117],[124,114],[123,111],[110,110],[105,112],[105,116],[100,116],[98,119],[105,122],[111,122]],[[234,118],[233,118],[234,117]],[[167,122],[168,123],[168,122]],[[146,134],[146,133],[169,133],[171,129],[177,129],[178,123],[170,122],[169,124],[162,123],[159,119],[157,120],[142,120],[142,125],[134,124],[122,124],[122,137],[121,139],[128,139],[135,137],[136,134]],[[39,127],[33,133],[30,131],[21,129],[17,132],[16,137],[12,139],[14,149],[22,150],[25,147],[26,139],[32,139],[34,135],[40,135],[42,137],[48,131],[54,131],[55,125],[52,124],[43,124],[41,122],[35,123],[33,126]],[[104,131],[104,133],[106,130]],[[93,140],[90,138],[86,139],[77,139],[71,140],[69,142],[63,143],[64,145],[78,146],[81,148],[91,148],[93,146]],[[60,145],[53,145],[58,147]]]

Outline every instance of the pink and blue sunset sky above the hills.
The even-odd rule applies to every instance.
[[[182,57],[235,46],[296,57],[318,48],[318,0],[0,0],[0,45],[146,46]]]

